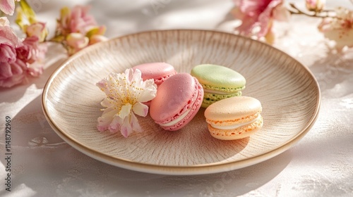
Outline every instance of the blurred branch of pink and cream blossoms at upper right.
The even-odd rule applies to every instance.
[[[301,14],[322,19],[318,30],[335,42],[335,49],[340,51],[345,46],[353,46],[353,11],[347,8],[325,10],[325,0],[303,0],[303,3],[304,9],[300,9],[294,3],[285,4],[284,0],[234,0],[231,13],[241,20],[235,30],[241,35],[273,44],[274,21],[288,22],[291,14]]]

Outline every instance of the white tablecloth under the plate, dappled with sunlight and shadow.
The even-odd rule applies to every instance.
[[[54,32],[62,6],[92,5],[107,37],[144,30],[206,29],[232,32],[231,0],[30,1]],[[304,1],[296,1],[303,6]],[[349,0],[328,6],[347,6]],[[294,15],[275,23],[275,47],[308,66],[322,103],[311,131],[285,153],[263,163],[218,174],[166,176],[125,170],[88,157],[66,144],[42,113],[41,94],[66,59],[49,46],[44,74],[0,89],[0,196],[353,196],[353,49],[330,50],[318,18]],[[11,192],[6,191],[5,119],[11,117]]]

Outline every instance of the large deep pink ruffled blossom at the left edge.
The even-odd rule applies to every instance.
[[[39,38],[27,37],[20,42],[7,18],[0,18],[0,87],[13,87],[26,77],[42,73],[42,60],[47,51]]]

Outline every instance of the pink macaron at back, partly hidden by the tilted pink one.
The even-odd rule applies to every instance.
[[[143,80],[153,79],[157,86],[162,84],[164,80],[167,80],[168,77],[177,73],[172,65],[164,62],[143,63],[134,66],[133,70],[135,69],[141,71],[141,77]]]

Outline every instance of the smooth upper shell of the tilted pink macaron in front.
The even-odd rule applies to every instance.
[[[196,82],[188,73],[179,73],[165,80],[150,103],[150,116],[157,124],[170,122],[186,110],[196,92]]]

